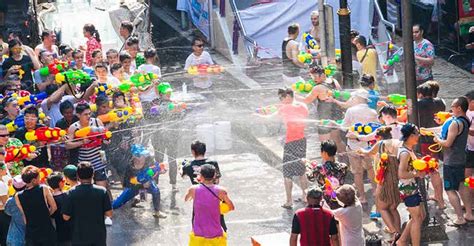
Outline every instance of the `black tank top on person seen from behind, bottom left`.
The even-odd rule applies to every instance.
[[[34,242],[42,242],[55,237],[56,232],[49,217],[43,187],[36,186],[24,190],[18,194],[18,199],[27,221],[25,238]]]

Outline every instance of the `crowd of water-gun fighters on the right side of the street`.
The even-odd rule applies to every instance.
[[[303,37],[318,35],[317,17],[318,12],[313,12],[313,27]],[[292,24],[282,43],[282,80],[287,88],[278,90],[279,103],[274,105],[273,113],[286,126],[282,166],[286,203],[282,207],[293,208],[294,178],[303,191],[301,199],[295,201],[305,205],[295,212],[290,245],[297,245],[298,237],[300,245],[365,245],[365,173],[375,200],[370,218],[382,219],[384,231],[391,234],[390,244],[420,245],[426,217],[423,203],[427,202],[420,183],[428,177],[434,196],[426,199],[434,200],[438,209],[444,210],[445,191],[456,214],[451,226],[467,225],[473,219],[474,192],[468,180],[472,179],[474,165],[474,91],[458,95],[450,107],[446,106],[438,97],[440,85],[431,70],[433,45],[423,38],[422,26],[414,25],[419,125],[408,123],[411,108],[406,106],[406,97],[405,101],[392,100],[395,95],[383,96],[378,91],[378,55],[373,47],[377,44],[369,45],[355,30],[351,35],[353,58],[361,66],[360,88],[351,91],[341,91],[336,75],[321,66],[318,50],[313,50],[317,36],[310,42],[298,42],[299,25]],[[301,52],[312,54],[312,60],[299,59]],[[306,70],[309,74],[303,72]],[[297,88],[304,78],[314,83],[309,91]],[[316,108],[314,115],[310,107]],[[317,127],[323,160],[319,165],[306,160],[308,125]],[[344,180],[347,166],[354,186]],[[307,178],[314,181],[309,190]],[[404,228],[399,213],[402,202],[409,214]]]

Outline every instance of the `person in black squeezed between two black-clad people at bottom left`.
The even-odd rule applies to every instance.
[[[63,193],[65,180],[60,172],[54,172],[49,175],[47,179],[49,187],[53,189],[53,198],[58,206],[58,210],[51,215],[56,223],[56,235],[58,243],[61,245],[70,245],[72,240],[72,225],[71,222],[65,221],[61,214],[61,208],[66,199],[66,193]]]

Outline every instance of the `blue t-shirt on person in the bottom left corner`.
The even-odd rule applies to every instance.
[[[23,215],[16,206],[15,197],[8,198],[5,204],[5,213],[12,217],[10,227],[8,227],[7,245],[25,245],[26,226],[23,221]]]

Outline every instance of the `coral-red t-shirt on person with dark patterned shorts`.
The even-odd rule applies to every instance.
[[[278,109],[278,115],[286,125],[285,143],[304,138],[308,108],[302,103],[282,104]]]

